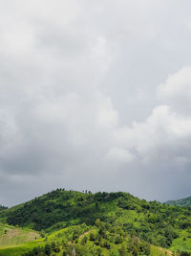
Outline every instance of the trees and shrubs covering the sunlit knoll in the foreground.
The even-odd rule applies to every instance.
[[[56,241],[56,243],[55,243]],[[149,255],[150,244],[140,242],[137,237],[127,237],[118,227],[113,228],[97,220],[95,226],[85,224],[71,226],[54,232],[47,238],[48,244],[32,249],[41,255],[49,255],[62,250],[62,255],[127,255],[127,253]]]

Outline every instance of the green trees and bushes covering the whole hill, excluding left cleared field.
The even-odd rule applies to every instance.
[[[26,255],[155,255],[150,244],[191,251],[189,208],[148,202],[128,193],[57,189],[1,211],[0,218],[44,237]]]

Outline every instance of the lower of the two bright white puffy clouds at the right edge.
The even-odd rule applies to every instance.
[[[174,161],[179,157],[190,158],[191,117],[183,118],[161,105],[144,123],[118,131],[120,141],[134,150],[140,161]]]

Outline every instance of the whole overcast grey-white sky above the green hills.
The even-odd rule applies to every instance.
[[[190,0],[0,3],[0,204],[191,196]]]

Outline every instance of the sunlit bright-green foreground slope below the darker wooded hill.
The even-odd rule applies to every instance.
[[[33,243],[0,246],[0,256],[172,255],[170,250],[139,241],[137,237],[131,238],[123,233],[121,241],[118,238],[119,230],[106,232],[104,223],[100,221],[94,227],[82,224],[54,231],[44,240]]]

